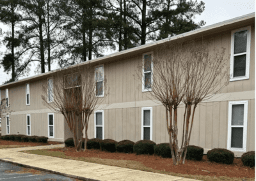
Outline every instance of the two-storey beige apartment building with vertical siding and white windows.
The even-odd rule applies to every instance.
[[[230,54],[227,64],[232,76],[227,87],[196,108],[189,145],[203,147],[205,154],[212,148],[227,148],[237,157],[255,150],[255,13],[90,61],[95,70],[106,76],[109,95],[90,117],[88,138],[169,142],[164,106],[148,99],[148,89],[134,78],[136,65],[142,64],[145,56],[154,59],[157,47],[166,42],[202,37],[213,42],[209,49],[226,48]],[[67,69],[83,68],[88,63],[82,62]],[[49,110],[41,98],[42,83],[51,83],[54,75],[63,70],[56,69],[0,86],[1,99],[8,99],[14,111],[2,119],[2,136],[28,134],[61,142],[72,137],[63,115]],[[151,71],[153,69],[144,74]],[[100,97],[104,97],[104,91]],[[54,101],[54,95],[49,100]],[[180,120],[183,113],[181,106],[178,109]],[[179,121],[178,128],[178,139],[181,140],[182,121]]]

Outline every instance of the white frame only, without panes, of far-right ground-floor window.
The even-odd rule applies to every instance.
[[[244,124],[243,126],[232,126],[232,105],[244,105]],[[236,152],[246,152],[246,137],[247,137],[247,118],[248,118],[248,101],[230,101],[228,103],[228,143],[227,149]],[[232,127],[243,127],[243,148],[231,147],[231,130]]]

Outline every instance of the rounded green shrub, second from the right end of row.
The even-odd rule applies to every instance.
[[[216,163],[232,164],[234,162],[234,153],[224,148],[214,148],[207,152],[209,161]]]

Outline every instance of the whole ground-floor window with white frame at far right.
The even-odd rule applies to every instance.
[[[228,150],[246,152],[248,101],[228,105]]]

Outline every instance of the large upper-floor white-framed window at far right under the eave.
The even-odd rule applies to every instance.
[[[251,27],[231,33],[230,81],[249,78]]]

